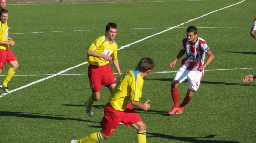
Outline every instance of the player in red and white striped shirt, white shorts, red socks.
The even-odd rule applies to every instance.
[[[194,26],[187,28],[187,38],[182,40],[181,47],[182,49],[176,58],[170,63],[170,67],[174,68],[176,61],[186,53],[186,56],[181,61],[181,67],[171,84],[174,106],[168,112],[169,115],[182,113],[184,106],[191,101],[194,92],[199,88],[204,75],[204,68],[214,59],[214,55],[211,53],[204,39],[197,37],[197,28]],[[204,62],[205,55],[208,56],[206,62]],[[185,79],[188,79],[189,87],[186,97],[179,105],[178,86]]]

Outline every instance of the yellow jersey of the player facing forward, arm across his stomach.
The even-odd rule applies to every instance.
[[[91,46],[89,47],[89,50],[92,50],[99,54],[111,56],[112,59],[117,59],[117,48],[117,43],[114,40],[112,40],[112,44],[110,44],[108,42],[106,35],[103,35],[92,42]],[[89,64],[97,66],[103,66],[109,63],[109,61],[106,61],[103,58],[94,57],[90,55],[86,56],[86,61]]]

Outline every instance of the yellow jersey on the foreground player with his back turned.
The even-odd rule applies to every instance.
[[[111,107],[124,111],[130,100],[140,101],[143,84],[144,80],[139,70],[130,70],[121,74],[109,97]]]

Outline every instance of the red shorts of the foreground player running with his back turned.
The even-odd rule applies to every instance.
[[[130,104],[127,105],[125,111],[118,111],[112,108],[108,102],[105,106],[104,117],[102,118],[100,125],[105,135],[111,135],[120,122],[125,123],[126,126],[131,126],[132,123],[140,121],[142,121],[140,116]]]

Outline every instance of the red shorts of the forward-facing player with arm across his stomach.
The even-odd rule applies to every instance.
[[[88,78],[90,81],[90,87],[94,92],[99,92],[101,86],[106,86],[116,82],[116,78],[109,64],[104,66],[89,65]]]

